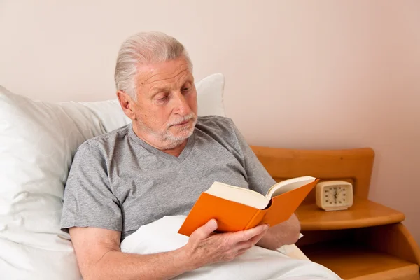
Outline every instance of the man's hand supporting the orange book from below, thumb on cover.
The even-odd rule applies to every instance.
[[[192,265],[190,269],[233,260],[257,244],[268,228],[268,225],[258,225],[249,230],[214,234],[212,232],[217,229],[217,223],[214,219],[210,220],[195,230],[183,247]]]

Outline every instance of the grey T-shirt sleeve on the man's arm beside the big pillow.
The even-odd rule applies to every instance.
[[[105,153],[87,141],[71,164],[64,188],[61,228],[104,228],[121,231],[123,219],[120,202],[113,195],[106,167]]]

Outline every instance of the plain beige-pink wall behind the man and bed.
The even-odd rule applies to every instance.
[[[179,38],[226,76],[250,144],[377,153],[370,198],[420,242],[420,1],[0,1],[0,84],[48,101],[114,97],[120,43]]]

